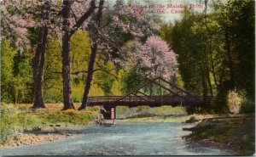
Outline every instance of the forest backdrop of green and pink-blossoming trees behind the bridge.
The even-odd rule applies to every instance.
[[[42,95],[44,95],[44,103],[62,103],[64,101],[63,93],[66,93],[65,90],[67,90],[63,87],[65,76],[62,75],[65,58],[65,56],[63,57],[63,48],[65,47],[63,45],[67,45],[63,36],[67,31],[72,31],[65,30],[63,25],[68,18],[76,19],[83,17],[83,14],[76,17],[70,11],[70,17],[66,19],[63,11],[55,14],[55,10],[58,11],[58,8],[61,7],[64,8],[59,11],[65,10],[65,6],[68,5],[75,8],[76,3],[61,5],[60,2],[51,4],[50,1],[42,1],[28,8],[27,5],[18,8],[15,7],[15,3],[10,2],[6,3],[7,5],[1,5],[3,8],[1,9],[3,14],[1,18],[1,102],[31,104],[34,101],[36,81],[33,70],[35,70],[34,60],[37,48],[40,46],[40,32],[42,32],[42,28],[48,26],[50,31],[51,22],[55,20],[55,27],[51,31],[56,31],[59,27],[63,34],[58,37],[58,32],[50,32],[53,34],[47,36],[45,41],[47,44],[44,53]],[[164,70],[166,74],[169,74],[166,75],[168,81],[175,82],[179,87],[183,87],[195,95],[217,97],[216,102],[206,104],[197,111],[229,112],[227,97],[230,91],[234,91],[242,99],[242,111],[254,112],[255,8],[253,0],[200,1],[199,3],[207,4],[211,11],[206,8],[203,12],[196,12],[193,9],[185,8],[185,14],[181,20],[170,23],[161,20],[159,14],[125,16],[118,8],[119,4],[125,3],[123,1],[117,1],[114,7],[108,6],[108,3],[104,3],[102,0],[81,2],[86,4],[85,6],[90,6],[81,8],[87,12],[93,6],[92,2],[96,4],[97,8],[94,8],[95,11],[90,14],[91,17],[88,20],[84,20],[84,27],[74,27],[75,32],[70,33],[72,35],[68,43],[70,46],[69,79],[71,83],[69,92],[72,91],[72,94],[69,100],[72,102],[81,103],[83,101],[84,86],[86,86],[86,81],[90,80],[88,77],[90,57],[96,42],[99,48],[96,51],[93,78],[89,88],[90,96],[123,95],[137,87],[146,78],[163,74],[163,70],[160,68],[155,70],[155,62],[154,65],[147,64],[148,60],[152,60],[152,56],[143,54],[145,52],[143,48],[153,47],[153,43],[150,43],[149,39],[155,37],[154,41],[160,41],[160,51],[177,54],[169,58],[172,61],[166,62],[170,65],[165,66]],[[102,7],[102,9],[107,10],[109,7],[115,12],[106,11],[107,14],[102,14],[101,3],[106,7]],[[54,5],[55,8],[53,8]],[[38,6],[42,8],[41,12],[37,10]],[[36,11],[38,14],[30,14],[31,19],[26,19],[25,12],[27,10]],[[48,17],[42,15],[43,13],[48,13]],[[62,19],[58,22],[58,18]],[[33,20],[38,25],[23,25],[22,20]],[[48,23],[41,22],[41,20],[46,20]],[[74,22],[73,25],[77,25],[79,22],[79,20],[75,21],[77,23]],[[109,23],[113,25],[107,26],[105,30],[95,30],[95,28],[100,28],[99,24]],[[125,28],[124,24],[131,27]],[[72,21],[70,25],[72,25]],[[150,28],[150,31],[139,27],[139,25],[143,25],[144,28],[148,25],[147,28]],[[72,27],[70,26],[70,28]],[[139,30],[139,32],[135,30]],[[106,31],[108,32],[106,33]],[[160,38],[157,38],[158,36]],[[168,44],[168,48],[163,49],[166,48],[166,44]],[[151,50],[148,52],[150,53]],[[160,58],[162,55],[159,54],[158,57]],[[137,57],[140,58],[132,60]],[[37,107],[37,105],[34,106]],[[68,109],[68,107],[64,106],[64,109]]]

